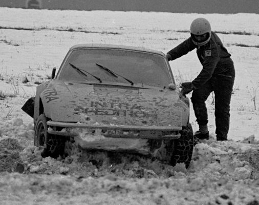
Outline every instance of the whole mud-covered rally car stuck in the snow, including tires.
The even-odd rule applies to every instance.
[[[23,110],[33,117],[42,157],[84,150],[136,153],[189,166],[189,99],[176,87],[165,54],[121,45],[71,47]]]

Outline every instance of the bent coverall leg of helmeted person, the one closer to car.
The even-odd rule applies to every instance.
[[[211,91],[212,91],[212,86],[209,80],[201,88],[197,90],[193,90],[192,96],[191,96],[191,102],[200,128],[201,137],[202,136],[208,137],[208,131],[207,131],[208,113],[207,113],[205,101],[207,100]]]

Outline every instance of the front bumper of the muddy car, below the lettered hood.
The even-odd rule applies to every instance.
[[[113,138],[178,139],[182,130],[177,126],[117,126],[57,121],[48,121],[47,125],[51,128],[48,129],[49,134],[71,137],[79,136],[79,132],[85,129],[101,130],[102,136]]]

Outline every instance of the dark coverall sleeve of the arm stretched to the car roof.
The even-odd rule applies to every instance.
[[[167,54],[170,55],[170,60],[174,60],[176,58],[181,57],[182,55],[187,54],[193,49],[195,49],[195,45],[193,44],[191,37],[189,37],[183,43],[179,44],[177,47],[167,52]]]

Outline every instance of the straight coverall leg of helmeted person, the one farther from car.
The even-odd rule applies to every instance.
[[[215,93],[215,124],[217,140],[227,140],[230,118],[230,99],[234,84],[232,76],[217,76],[213,83]]]

